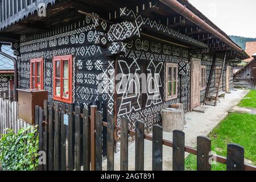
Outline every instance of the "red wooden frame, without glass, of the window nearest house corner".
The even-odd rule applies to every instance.
[[[56,62],[60,61],[60,78],[56,77]],[[64,61],[68,61],[68,79],[64,78]],[[73,103],[73,92],[72,92],[72,73],[73,73],[73,56],[54,56],[53,57],[53,100],[65,102],[68,104]],[[56,80],[60,80],[60,96],[56,95]],[[63,96],[64,80],[68,80],[68,98]]]

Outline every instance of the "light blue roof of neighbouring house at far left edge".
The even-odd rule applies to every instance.
[[[2,52],[15,57],[13,55],[13,49],[11,49],[10,46],[2,46]],[[13,69],[14,69],[13,61],[8,59],[5,56],[0,55],[0,71],[11,71]]]

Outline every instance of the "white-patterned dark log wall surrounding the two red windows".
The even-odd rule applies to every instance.
[[[84,16],[82,16],[84,17]],[[44,59],[44,89],[48,90],[49,100],[53,100],[53,56],[73,55],[73,102],[85,105],[102,101],[113,112],[113,94],[101,94],[97,91],[103,78],[110,79],[114,60],[103,55],[104,49],[94,44],[94,37],[99,34],[97,23],[91,16],[79,22],[69,24],[58,30],[43,34],[26,36],[20,40],[19,88],[30,88],[30,59]],[[100,25],[101,26],[101,25]],[[102,25],[103,26],[103,25]]]

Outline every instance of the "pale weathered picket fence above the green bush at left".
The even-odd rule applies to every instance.
[[[19,129],[29,124],[18,118],[18,102],[0,98],[0,138],[6,134],[6,129],[13,129],[18,133]]]

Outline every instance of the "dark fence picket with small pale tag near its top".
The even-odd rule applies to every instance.
[[[61,104],[60,111],[60,170],[66,169],[66,132],[64,124],[64,114],[66,114],[65,104]]]

